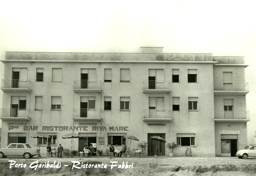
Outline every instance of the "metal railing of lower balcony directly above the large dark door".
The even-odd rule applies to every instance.
[[[143,118],[170,119],[171,109],[144,109]]]

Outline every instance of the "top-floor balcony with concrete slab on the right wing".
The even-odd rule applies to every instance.
[[[215,95],[246,95],[249,92],[248,83],[213,83]]]

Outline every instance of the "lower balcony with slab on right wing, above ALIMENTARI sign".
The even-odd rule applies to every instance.
[[[250,121],[249,111],[214,111],[215,122],[247,122]]]

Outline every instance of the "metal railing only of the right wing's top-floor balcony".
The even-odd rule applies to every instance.
[[[223,83],[214,82],[214,91],[249,91],[248,83]]]

